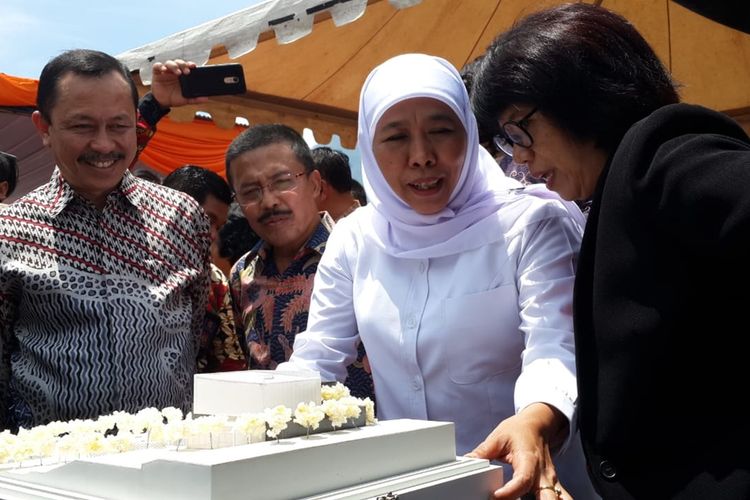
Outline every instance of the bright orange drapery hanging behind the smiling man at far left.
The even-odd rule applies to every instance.
[[[36,106],[37,80],[0,73],[0,106]],[[224,155],[241,126],[219,128],[210,120],[176,123],[168,117],[158,124],[158,133],[140,156],[140,161],[161,174],[194,163],[224,175]]]

